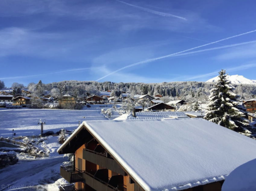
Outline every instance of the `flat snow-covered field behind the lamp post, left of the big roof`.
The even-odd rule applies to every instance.
[[[78,121],[106,119],[100,113],[102,108],[111,108],[111,104],[91,105],[83,110],[64,109],[0,109],[0,137],[12,137],[12,130],[16,136],[40,135],[39,119],[45,119],[44,132],[57,132],[64,128],[73,130],[78,127]],[[115,114],[117,115],[117,113]],[[111,117],[114,119],[115,116]],[[118,116],[116,116],[118,117]]]

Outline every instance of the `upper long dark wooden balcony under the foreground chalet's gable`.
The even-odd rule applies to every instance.
[[[118,163],[107,153],[99,153],[92,150],[84,149],[83,158],[86,161],[100,165],[103,168],[114,171],[122,176],[125,176],[125,171],[118,165]]]

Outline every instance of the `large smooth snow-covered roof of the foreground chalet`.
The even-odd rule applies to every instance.
[[[200,118],[83,124],[146,191],[180,191],[224,180],[256,158],[255,140]]]

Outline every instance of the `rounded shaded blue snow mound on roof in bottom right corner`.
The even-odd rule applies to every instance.
[[[256,159],[249,161],[232,171],[226,178],[222,191],[255,191]]]

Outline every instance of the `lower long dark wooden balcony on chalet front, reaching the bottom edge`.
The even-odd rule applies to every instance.
[[[84,171],[84,180],[85,184],[89,185],[91,188],[99,191],[126,191],[123,188],[123,185],[118,185],[118,188],[113,187],[112,185],[96,178],[94,175],[90,174],[87,171]]]

